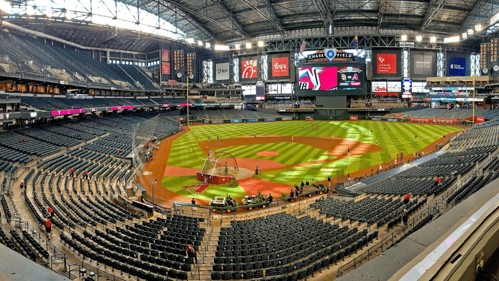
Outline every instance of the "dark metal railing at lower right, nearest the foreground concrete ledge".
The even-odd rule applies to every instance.
[[[407,226],[411,226],[411,229],[416,226],[416,221],[422,220],[424,217],[427,215],[433,213],[434,208],[433,206],[427,206],[426,208],[422,209],[419,213],[417,213],[415,216],[413,216],[411,219],[407,221]],[[360,266],[359,264],[362,263],[364,260],[371,260],[371,257],[373,254],[382,253],[386,251],[389,247],[391,247],[395,242],[396,238],[399,235],[404,235],[409,231],[409,228],[406,227],[404,224],[401,225],[398,229],[390,233],[388,236],[383,238],[381,241],[376,243],[375,245],[371,246],[369,249],[366,251],[362,252],[359,254],[357,257],[352,259],[351,261],[347,262],[345,265],[340,266],[338,268],[338,273],[336,274],[337,277],[343,276],[344,274],[352,271],[355,269],[357,266]],[[377,255],[377,254],[376,254]]]

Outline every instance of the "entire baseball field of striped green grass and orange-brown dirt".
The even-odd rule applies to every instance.
[[[401,151],[412,159],[415,151],[425,147],[428,151],[430,144],[459,130],[449,125],[371,120],[194,125],[163,140],[154,160],[144,167],[152,174],[141,178],[145,185],[149,177],[161,178],[164,188],[156,187],[155,195],[169,201],[195,198],[207,204],[217,195],[241,198],[258,190],[280,197],[280,192],[289,193],[302,180],[325,183],[327,176],[336,177],[337,170],[353,177],[380,164],[385,167],[390,156],[395,160]],[[196,180],[196,171],[211,150],[231,153],[239,168],[254,171],[258,166],[258,177],[224,185],[202,184]],[[233,168],[234,159],[227,160]]]

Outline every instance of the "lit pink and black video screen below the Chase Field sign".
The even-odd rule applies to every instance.
[[[361,90],[363,80],[363,71],[360,66],[320,66],[298,69],[299,90]]]

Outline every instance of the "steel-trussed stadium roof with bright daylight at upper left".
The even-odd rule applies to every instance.
[[[89,0],[78,3],[86,1]],[[10,1],[10,4],[40,9],[34,2]],[[92,5],[95,2],[98,1],[93,1]],[[481,24],[482,28],[493,25],[496,23],[493,21],[494,10],[499,11],[499,0],[118,0],[113,3],[125,6],[121,13],[128,10],[125,16],[136,26],[143,25],[147,17],[157,18],[159,15],[161,22],[157,20],[158,27],[170,32],[171,38],[182,40],[190,37],[212,44],[343,35],[407,34],[422,35],[423,40],[429,40],[431,36],[440,39],[461,36],[473,29],[469,36],[472,37],[477,33],[476,24]],[[95,22],[92,16],[95,18],[99,12],[109,10],[110,14],[119,17],[119,9],[114,13],[114,7],[109,4],[93,10],[86,6],[86,10],[80,8],[81,11],[66,10],[65,7],[52,9],[51,15],[45,18],[26,17],[26,12],[10,14],[11,17],[3,19],[36,30],[30,25],[36,24],[37,20],[46,21],[46,17],[58,18],[54,13],[60,16],[63,11],[67,21],[45,23],[50,24],[50,28],[42,32],[78,41],[82,45],[140,52],[151,50],[153,41],[157,40],[153,36],[148,38],[147,34],[142,38],[137,38],[136,34],[127,35],[127,32],[114,32],[113,35],[114,27],[88,25]],[[94,41],[93,38],[100,39]]]

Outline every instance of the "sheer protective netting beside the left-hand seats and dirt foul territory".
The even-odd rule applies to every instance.
[[[159,143],[181,129],[179,121],[169,117],[160,113],[132,125],[131,157],[134,168],[138,169],[145,161],[152,160],[152,151],[159,149]]]

